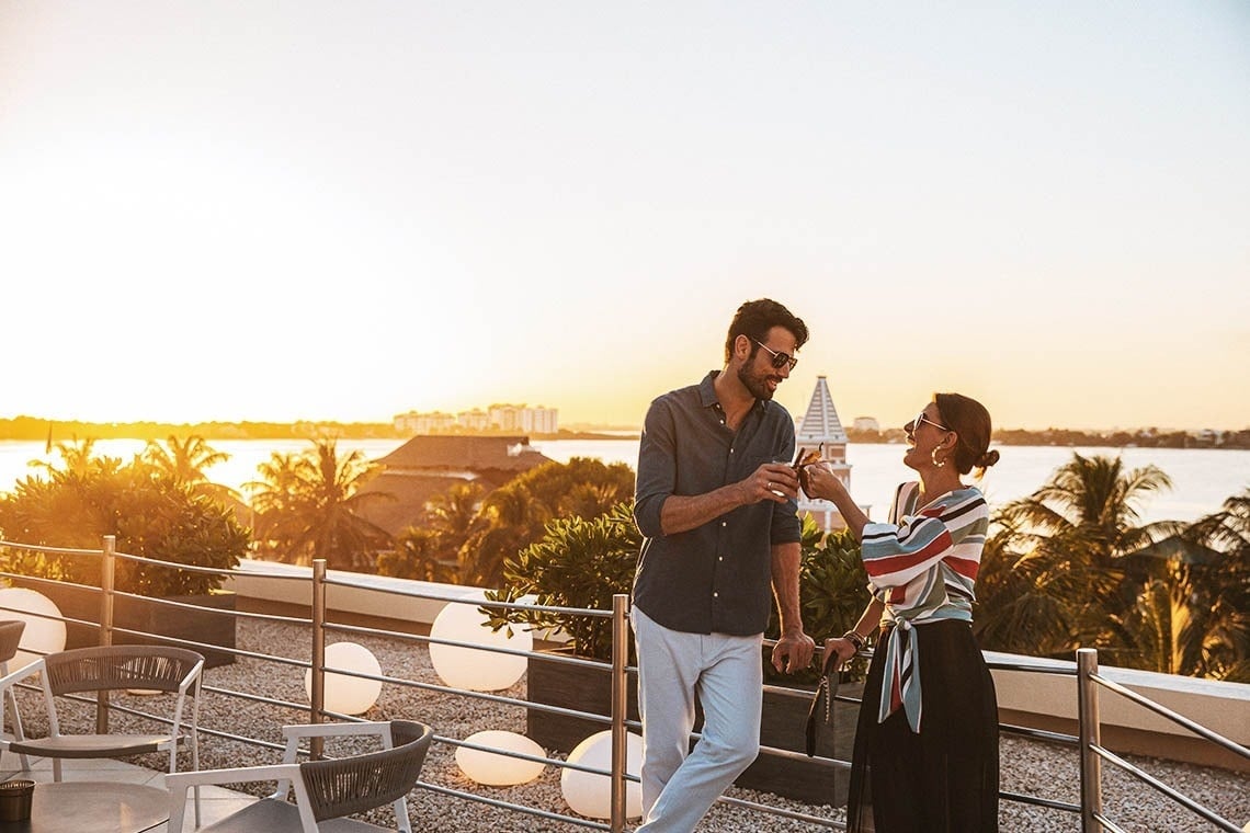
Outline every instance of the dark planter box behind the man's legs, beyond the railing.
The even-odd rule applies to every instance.
[[[532,703],[559,706],[609,714],[611,712],[610,668],[585,668],[530,657],[526,673],[528,697]],[[858,697],[860,684],[844,684],[840,693]],[[629,719],[638,718],[638,677],[629,674]],[[814,804],[844,806],[850,771],[821,761],[806,758],[808,709],[811,694],[801,691],[769,691],[764,694],[764,713],[760,721],[760,743],[778,749],[796,752],[804,758],[795,761],[760,753],[746,772],[739,776],[736,786],[758,789],[785,798]],[[835,703],[832,729],[818,733],[816,754],[849,761],[855,743],[855,722],[859,706]],[[701,714],[695,721],[695,731],[702,726]],[[595,732],[608,728],[606,723],[584,718],[530,711],[526,717],[526,734],[548,749],[571,752],[578,743]]]

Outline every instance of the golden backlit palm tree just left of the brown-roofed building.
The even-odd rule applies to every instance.
[[[278,561],[369,572],[376,553],[391,547],[390,536],[366,521],[361,510],[391,500],[382,492],[360,492],[371,468],[360,451],[340,457],[334,440],[314,440],[300,455],[274,453],[258,467],[254,490],[260,555]]]

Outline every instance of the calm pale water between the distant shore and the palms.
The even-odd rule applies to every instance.
[[[210,443],[230,455],[230,460],[209,471],[211,480],[244,491],[258,477],[256,466],[270,455],[299,453],[311,447],[306,440],[221,440]],[[372,460],[402,445],[400,440],[340,440],[340,452],[361,451]],[[535,448],[552,460],[598,457],[604,462],[638,463],[636,440],[556,440],[534,442]],[[96,443],[99,453],[129,461],[141,451],[139,440],[105,440]],[[986,472],[982,488],[991,505],[1001,505],[1029,495],[1059,466],[1081,455],[1121,455],[1128,467],[1154,463],[1172,480],[1172,490],[1158,495],[1139,510],[1146,521],[1192,521],[1215,512],[1225,498],[1250,488],[1250,451],[1211,451],[1181,448],[1066,448],[1050,446],[1002,446],[999,465]],[[906,480],[901,445],[850,445],[846,461],[851,465],[851,495],[869,507],[872,518],[885,517],[894,487]],[[0,441],[0,491],[36,472],[31,460],[60,462],[58,455],[44,456],[42,442]]]

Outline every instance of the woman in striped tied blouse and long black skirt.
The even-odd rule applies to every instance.
[[[870,523],[828,463],[802,470],[802,488],[832,501],[856,538],[872,599],[854,628],[825,641],[838,663],[880,638],[855,736],[848,829],[878,833],[998,831],[999,734],[994,682],[972,638],[972,586],[989,512],[976,477],[990,415],[959,393],[936,393],[905,426],[902,462],[920,476],[899,486],[886,523]]]

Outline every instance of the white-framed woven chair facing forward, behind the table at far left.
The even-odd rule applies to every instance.
[[[178,769],[178,746],[186,742],[191,766],[199,768],[200,672],[204,657],[186,648],[165,646],[109,646],[60,651],[40,657],[25,668],[0,677],[0,691],[39,674],[48,706],[48,737],[26,738],[20,718],[14,719],[12,739],[0,737],[0,751],[52,759],[52,779],[61,779],[62,758],[116,758],[148,752],[169,752],[169,771]],[[66,733],[56,711],[58,698],[88,692],[142,689],[175,693],[172,716],[162,734]],[[191,694],[190,708],[186,696]],[[16,702],[14,711],[16,712]],[[188,717],[188,712],[190,716]],[[92,727],[95,728],[95,727]],[[25,758],[22,759],[25,766]],[[29,766],[26,767],[29,769]]]

